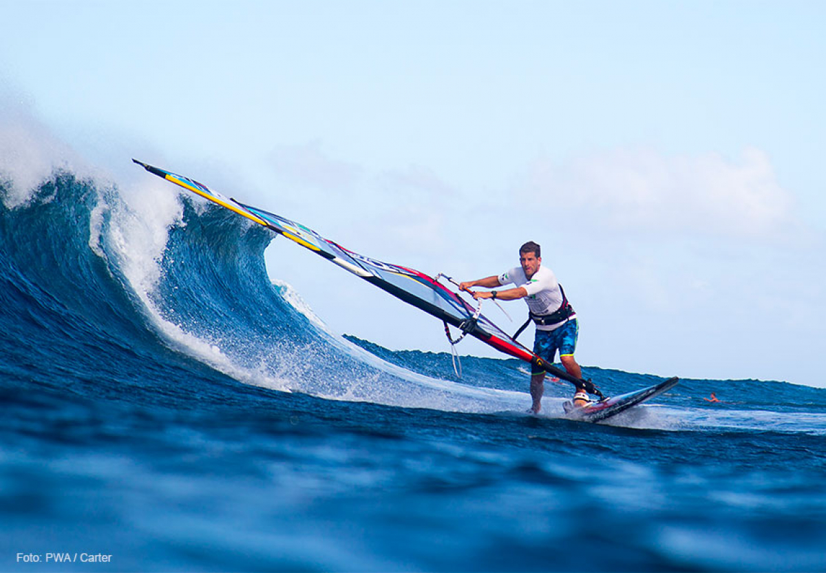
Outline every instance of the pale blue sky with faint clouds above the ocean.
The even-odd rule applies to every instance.
[[[123,186],[145,177],[136,156],[458,279],[538,241],[582,364],[826,385],[823,2],[0,12],[0,150],[26,117],[26,145]],[[282,241],[267,258],[335,332],[447,349],[332,265]],[[515,328],[524,305],[507,309]]]

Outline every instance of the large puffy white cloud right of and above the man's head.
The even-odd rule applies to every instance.
[[[558,165],[539,160],[525,200],[589,227],[776,239],[800,230],[795,201],[762,150],[668,157],[614,150]]]

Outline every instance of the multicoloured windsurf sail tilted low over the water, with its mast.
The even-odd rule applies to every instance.
[[[207,188],[194,179],[189,179],[183,175],[174,174],[167,170],[159,169],[152,165],[147,165],[142,161],[133,161],[142,166],[151,174],[158,175],[170,183],[179,185],[183,189],[188,189],[203,198],[207,198],[212,203],[217,203],[223,208],[238,213],[241,217],[246,217],[263,227],[267,227],[273,232],[296,242],[306,249],[315,252],[326,260],[339,265],[344,270],[348,270],[376,285],[379,289],[400,298],[416,308],[420,308],[435,318],[439,318],[445,324],[459,328],[463,334],[470,334],[472,337],[485,342],[487,345],[496,348],[506,355],[513,356],[522,361],[529,362],[538,368],[545,370],[551,375],[557,376],[561,380],[566,380],[577,386],[583,386],[589,393],[602,397],[599,389],[591,380],[582,380],[576,376],[569,375],[565,370],[561,370],[552,364],[548,364],[534,352],[522,346],[514,338],[497,327],[494,322],[479,312],[479,308],[474,308],[472,304],[466,302],[459,294],[454,293],[439,282],[437,278],[425,275],[418,270],[413,270],[401,265],[392,265],[380,260],[371,259],[364,255],[359,255],[354,251],[349,251],[334,241],[330,241],[309,227],[300,223],[290,221],[285,217],[276,215],[273,212],[264,211],[261,208],[240,203],[233,198],[227,198],[221,193]]]

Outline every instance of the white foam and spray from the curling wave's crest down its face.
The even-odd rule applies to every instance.
[[[25,103],[13,101],[16,96],[0,93],[0,180],[7,187],[2,196],[6,208],[26,205],[36,191],[55,172],[66,171],[76,179],[87,179],[97,189],[113,189],[112,178],[93,168],[64,141],[60,141],[42,122],[31,114]],[[155,307],[150,294],[160,279],[160,259],[169,240],[169,226],[180,224],[182,208],[177,193],[169,187],[151,182],[130,192],[98,193],[97,205],[89,220],[88,246],[93,253],[107,260],[103,249],[104,222],[112,217],[106,237],[112,245],[129,287],[140,300],[150,323],[172,346],[205,361],[236,380],[258,380],[259,375],[235,367],[221,348],[186,332],[165,320]],[[116,201],[116,204],[110,201]],[[40,198],[49,201],[50,198]],[[277,386],[279,380],[268,380]]]

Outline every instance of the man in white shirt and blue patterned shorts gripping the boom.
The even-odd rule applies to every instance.
[[[520,247],[520,266],[498,276],[471,280],[459,284],[459,289],[472,294],[473,298],[492,298],[494,300],[516,300],[525,298],[528,303],[529,316],[536,325],[534,354],[553,364],[557,351],[567,373],[582,379],[582,369],[574,360],[577,349],[579,322],[571,304],[568,303],[556,275],[548,267],[542,266],[542,252],[534,241],[526,242]],[[513,289],[472,291],[473,287],[495,289],[505,284],[515,284]],[[533,413],[542,408],[545,371],[534,365],[530,376],[530,396]],[[590,402],[588,394],[577,385],[573,397],[575,407]]]

